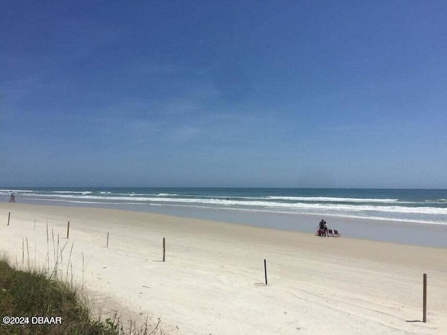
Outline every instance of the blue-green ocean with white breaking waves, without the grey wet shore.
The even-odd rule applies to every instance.
[[[447,190],[340,188],[1,188],[0,200],[172,213],[318,214],[447,225]],[[194,216],[194,215],[192,215]],[[198,215],[200,217],[200,214]]]

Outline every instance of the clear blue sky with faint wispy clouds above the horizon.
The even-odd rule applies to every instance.
[[[1,1],[0,185],[447,188],[446,1]]]

